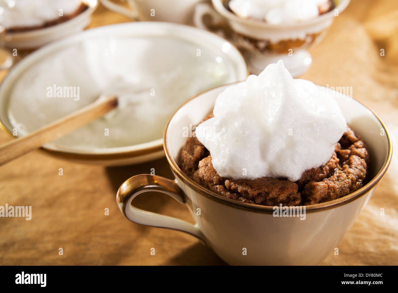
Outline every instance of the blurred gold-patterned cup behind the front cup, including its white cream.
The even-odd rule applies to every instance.
[[[194,22],[231,39],[253,74],[283,60],[297,77],[312,63],[308,47],[324,38],[348,4],[349,0],[211,0],[197,4]]]

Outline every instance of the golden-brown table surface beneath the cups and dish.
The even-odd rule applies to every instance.
[[[125,21],[129,20],[99,6],[90,27]],[[380,56],[380,49],[385,56]],[[397,145],[398,2],[352,0],[310,53],[313,64],[302,78],[321,85],[352,86],[353,96],[384,120]],[[0,79],[5,74],[1,72]],[[0,143],[9,140],[0,132]],[[331,252],[323,265],[398,264],[397,163],[394,156],[367,207],[338,245],[339,255]],[[0,218],[0,264],[225,264],[193,236],[138,225],[122,216],[115,202],[120,184],[133,175],[150,173],[151,168],[156,175],[172,178],[165,158],[103,168],[56,159],[41,150],[0,167],[0,205],[32,206],[31,221]],[[193,223],[187,208],[167,195],[145,193],[135,203]],[[385,215],[380,215],[380,208]]]

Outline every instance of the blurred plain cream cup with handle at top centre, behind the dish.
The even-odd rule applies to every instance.
[[[127,0],[131,10],[109,0],[101,4],[119,14],[142,21],[169,21],[192,24],[195,5],[203,0]]]

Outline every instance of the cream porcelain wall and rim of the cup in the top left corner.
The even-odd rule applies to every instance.
[[[88,9],[68,21],[33,31],[7,33],[4,35],[4,46],[12,49],[35,49],[72,33],[82,31],[90,24],[91,15],[98,6],[98,0],[86,0],[84,2],[89,6]]]

